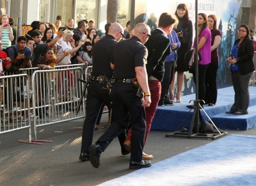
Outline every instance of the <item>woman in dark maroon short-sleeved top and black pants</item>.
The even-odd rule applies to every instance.
[[[208,106],[214,106],[217,101],[217,70],[219,68],[218,46],[221,42],[221,31],[217,29],[217,18],[208,15],[209,29],[211,30],[211,63],[205,74],[205,96],[204,101]]]

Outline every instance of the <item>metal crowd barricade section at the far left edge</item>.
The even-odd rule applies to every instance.
[[[0,76],[0,82],[0,134],[28,129],[31,142],[28,75]]]

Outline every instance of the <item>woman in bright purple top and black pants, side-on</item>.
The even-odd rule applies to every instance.
[[[193,48],[195,48],[195,41]],[[205,73],[211,63],[211,31],[208,28],[208,18],[204,13],[198,14],[198,52],[202,57],[202,60],[198,62],[198,99],[204,100]],[[195,82],[195,72],[193,72],[193,79]],[[202,101],[200,101],[200,105],[202,105]],[[188,107],[193,108],[194,105],[188,105]]]

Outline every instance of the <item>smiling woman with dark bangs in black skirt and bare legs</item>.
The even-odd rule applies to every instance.
[[[181,102],[181,91],[184,82],[184,72],[188,71],[188,65],[184,63],[185,53],[189,52],[193,43],[193,25],[191,20],[189,20],[189,13],[186,4],[179,4],[177,6],[175,15],[178,18],[178,26],[175,29],[178,38],[180,40],[180,48],[177,51],[178,59],[175,71],[177,72],[177,92],[176,92],[176,102]],[[174,100],[174,78],[170,85],[170,98]]]

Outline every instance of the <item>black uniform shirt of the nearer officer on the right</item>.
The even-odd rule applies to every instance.
[[[128,79],[136,77],[135,67],[145,66],[148,50],[139,38],[133,36],[119,42],[115,46],[111,63],[115,65],[114,79]]]

